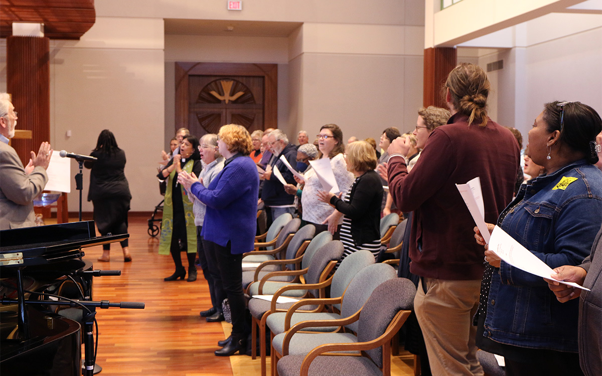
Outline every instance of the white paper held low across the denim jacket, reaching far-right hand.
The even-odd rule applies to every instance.
[[[553,279],[551,275],[554,273],[554,271],[548,267],[545,262],[527,250],[527,248],[523,247],[522,244],[517,242],[514,238],[512,238],[512,236],[508,235],[498,226],[495,226],[495,229],[491,233],[491,239],[489,239],[489,250],[493,251],[495,254],[500,256],[500,259],[504,260],[515,268],[519,268],[520,270],[535,274],[539,277]],[[589,291],[589,289],[577,285],[577,283],[574,282],[558,282]]]

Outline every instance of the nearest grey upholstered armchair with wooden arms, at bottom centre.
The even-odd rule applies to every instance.
[[[415,294],[416,288],[410,280],[389,279],[374,289],[358,315],[336,321],[306,321],[295,325],[287,334],[287,339],[295,341],[295,337],[302,337],[301,341],[296,341],[299,348],[294,349],[295,354],[292,354],[293,341],[290,344],[285,341],[284,351],[291,354],[278,362],[278,374],[390,376],[391,337],[410,315]],[[311,325],[349,325],[353,321],[358,322],[357,336],[350,333],[295,332]]]

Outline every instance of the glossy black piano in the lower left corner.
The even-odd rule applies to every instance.
[[[96,236],[94,221],[0,231],[0,374],[81,375],[81,326],[55,313],[49,292],[73,281],[79,298],[91,300],[92,263],[82,248],[128,237]],[[87,278],[76,279],[82,271]]]

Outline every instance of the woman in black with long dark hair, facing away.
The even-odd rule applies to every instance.
[[[84,166],[90,171],[90,190],[88,201],[94,205],[94,221],[101,235],[128,233],[128,211],[132,195],[129,193],[128,179],[125,178],[125,152],[119,149],[113,132],[105,129],[98,136],[96,147],[90,153],[98,158],[86,161]],[[123,261],[132,260],[129,254],[128,239],[120,242]],[[99,261],[110,259],[110,244],[102,245]]]

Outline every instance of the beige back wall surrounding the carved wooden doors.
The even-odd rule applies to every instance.
[[[96,1],[96,23],[81,40],[51,41],[52,146],[89,153],[99,132],[111,129],[128,158],[132,211],[151,211],[160,202],[154,176],[173,132],[175,61],[278,64],[279,126],[293,140],[299,129],[311,135],[327,122],[338,122],[346,135],[378,138],[386,126],[415,121],[422,102],[423,1],[254,0],[241,12],[225,5]],[[164,18],[305,24],[299,40],[165,35]],[[0,90],[5,72],[2,40]],[[88,180],[84,171],[83,210],[89,212]],[[77,208],[72,186],[69,210]]]

